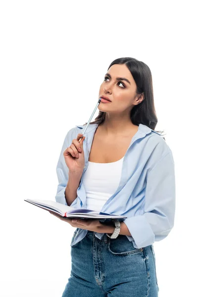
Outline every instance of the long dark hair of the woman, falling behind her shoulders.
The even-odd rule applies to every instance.
[[[154,130],[158,122],[153,98],[152,75],[147,64],[135,58],[124,57],[115,59],[108,67],[114,64],[125,64],[131,72],[136,82],[136,93],[142,94],[144,92],[144,100],[135,105],[131,110],[131,121],[134,125],[144,124],[150,129]],[[94,122],[90,124],[102,124],[105,120],[105,112],[99,110],[99,115],[95,118]],[[84,125],[87,125],[85,123]],[[162,133],[164,131],[156,131]],[[163,137],[165,140],[165,138]]]

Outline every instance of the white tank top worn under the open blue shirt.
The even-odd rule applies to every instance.
[[[104,203],[117,190],[123,158],[111,163],[89,162],[83,176],[83,185],[86,191],[86,209],[100,211]]]

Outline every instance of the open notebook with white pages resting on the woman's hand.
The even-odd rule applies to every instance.
[[[123,216],[123,215],[115,215],[115,214],[95,211],[91,209],[73,208],[71,206],[64,205],[62,203],[51,201],[51,200],[24,199],[24,201],[32,203],[45,210],[54,212],[60,215],[61,217],[67,217],[67,218],[81,218],[81,219],[125,219],[127,218],[126,216]]]

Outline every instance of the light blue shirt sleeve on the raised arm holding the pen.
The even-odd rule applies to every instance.
[[[67,135],[65,136],[64,139],[64,143],[60,152],[60,156],[58,159],[58,163],[56,166],[56,174],[57,174],[57,178],[58,178],[58,186],[57,186],[57,191],[56,191],[56,196],[55,196],[55,200],[56,202],[68,205],[65,199],[65,188],[67,186],[68,183],[68,174],[69,174],[69,169],[65,163],[65,159],[63,156],[63,152],[66,148],[68,148],[71,145],[72,142],[72,131],[74,128],[70,129],[67,133]],[[77,197],[78,198],[78,197]],[[75,207],[77,198],[71,203],[70,206]]]

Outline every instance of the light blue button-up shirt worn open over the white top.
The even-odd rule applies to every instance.
[[[70,147],[72,140],[85,127],[86,125],[79,125],[68,131],[58,159],[56,172],[59,184],[55,200],[65,205],[64,192],[69,170],[63,151]],[[77,189],[77,198],[70,205],[74,208],[86,209],[83,175],[89,166],[89,154],[97,127],[98,124],[89,124],[84,134],[85,166]],[[131,234],[127,238],[133,241],[135,248],[147,247],[169,234],[175,217],[175,164],[172,151],[162,135],[146,125],[139,125],[124,155],[119,186],[104,203],[101,211],[127,216],[123,222]],[[86,234],[87,230],[79,228],[71,246],[81,241]],[[101,239],[103,234],[95,233],[95,236]]]

